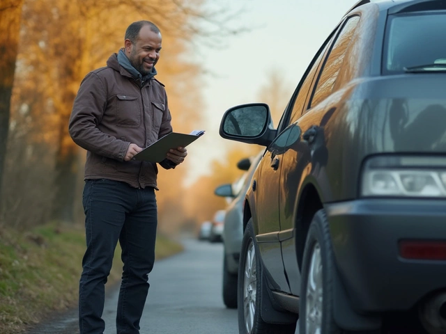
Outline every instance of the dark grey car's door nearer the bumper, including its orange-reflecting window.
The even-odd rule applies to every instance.
[[[312,112],[311,108],[332,93],[359,20],[359,16],[346,18],[340,25],[339,31],[333,35],[333,41],[327,45],[327,51],[321,57],[317,79],[305,93],[305,102],[300,102],[298,96],[290,120],[290,128],[295,128],[295,134],[289,136],[286,143],[287,150],[282,157],[279,181],[281,194],[279,240],[282,243],[282,256],[290,290],[295,295],[300,294],[300,271],[295,244],[295,240],[298,239],[296,233],[300,230],[295,228],[295,204],[305,177],[309,174],[316,175],[318,170],[315,168],[320,168],[321,164],[324,164],[323,161],[328,158],[323,127],[334,113],[334,109],[330,108],[319,109],[318,112]],[[300,239],[305,240],[305,238]]]

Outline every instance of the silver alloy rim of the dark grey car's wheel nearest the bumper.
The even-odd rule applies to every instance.
[[[305,333],[321,334],[323,305],[323,273],[321,246],[314,244],[309,263],[305,303]]]

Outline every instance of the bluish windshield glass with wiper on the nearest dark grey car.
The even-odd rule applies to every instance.
[[[387,24],[385,72],[444,71],[446,13],[394,15]]]

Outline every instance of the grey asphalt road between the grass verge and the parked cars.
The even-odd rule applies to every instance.
[[[237,310],[222,301],[222,244],[187,239],[185,251],[155,262],[141,334],[238,334]],[[108,288],[104,334],[116,334],[118,289]],[[27,334],[79,334],[77,310]]]

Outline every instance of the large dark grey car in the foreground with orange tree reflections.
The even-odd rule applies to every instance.
[[[266,104],[226,111],[224,138],[266,146],[240,333],[446,333],[445,31],[446,1],[360,1],[277,129]]]

